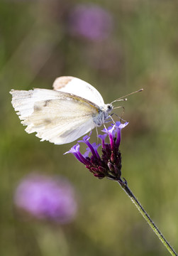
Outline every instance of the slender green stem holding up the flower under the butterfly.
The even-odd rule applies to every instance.
[[[155,234],[158,236],[158,238],[160,238],[160,240],[162,241],[162,243],[165,245],[165,247],[167,248],[167,250],[170,252],[171,255],[173,256],[177,256],[177,253],[174,251],[174,249],[172,248],[171,245],[169,245],[169,242],[167,242],[167,240],[164,238],[164,236],[162,235],[162,233],[160,233],[160,230],[157,228],[157,226],[155,225],[155,223],[153,223],[152,219],[150,218],[150,216],[148,215],[148,213],[144,210],[143,206],[141,206],[141,204],[139,203],[139,201],[137,200],[137,198],[135,198],[135,196],[133,195],[132,191],[130,191],[130,188],[128,188],[127,182],[123,181],[121,178],[118,179],[118,183],[121,185],[121,187],[123,188],[123,190],[126,192],[126,194],[129,196],[129,198],[131,199],[131,201],[135,204],[136,208],[138,208],[138,210],[140,211],[140,213],[143,215],[143,218],[145,218],[145,220],[147,221],[147,223],[150,225],[150,227],[152,228],[152,230],[155,232]]]

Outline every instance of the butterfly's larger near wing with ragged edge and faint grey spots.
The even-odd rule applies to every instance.
[[[98,107],[88,100],[56,90],[11,90],[12,105],[26,132],[37,132],[41,141],[73,142],[95,127]]]

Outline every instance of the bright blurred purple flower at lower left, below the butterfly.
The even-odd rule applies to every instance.
[[[16,188],[14,202],[35,218],[68,223],[77,213],[74,188],[64,178],[32,174]]]

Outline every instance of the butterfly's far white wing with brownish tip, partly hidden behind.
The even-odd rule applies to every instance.
[[[86,100],[94,102],[99,107],[104,105],[104,100],[99,91],[88,82],[84,82],[79,78],[73,78],[71,76],[56,78],[52,87],[54,90],[69,92],[79,97],[83,97]]]

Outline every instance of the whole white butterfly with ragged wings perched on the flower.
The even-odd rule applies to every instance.
[[[21,123],[27,125],[26,132],[36,132],[41,141],[73,142],[107,122],[113,110],[93,86],[79,78],[57,78],[53,89],[10,92]]]

